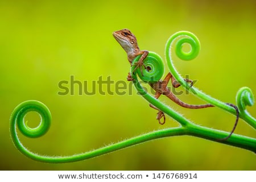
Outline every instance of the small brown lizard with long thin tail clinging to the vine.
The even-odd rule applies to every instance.
[[[141,73],[142,73],[143,67],[144,67],[144,69],[147,69],[145,67],[145,65],[143,64],[143,60],[147,57],[148,51],[139,49],[137,39],[136,39],[135,35],[131,33],[130,30],[122,29],[122,30],[114,31],[113,36],[114,36],[115,40],[117,40],[117,42],[121,45],[121,47],[127,53],[127,59],[129,61],[130,65],[132,65],[132,62],[135,59],[135,57],[137,57],[138,55],[142,55],[139,58],[139,60],[137,61],[137,63],[135,63],[135,65],[136,65],[135,69],[140,68]],[[178,104],[182,107],[189,108],[189,109],[202,109],[202,108],[206,108],[206,107],[214,107],[214,105],[212,105],[212,104],[190,105],[190,104],[187,104],[187,103],[179,100],[179,98],[177,98],[171,92],[171,90],[167,87],[167,84],[170,80],[172,81],[172,86],[174,86],[175,88],[180,86],[179,82],[177,82],[175,80],[175,78],[172,76],[171,72],[169,72],[167,74],[167,76],[164,78],[164,80],[160,80],[160,81],[156,82],[155,84],[150,84],[150,86],[156,92],[155,96],[154,96],[156,99],[158,99],[163,94],[164,96],[167,96],[172,101],[174,101],[176,104]],[[184,79],[184,80],[186,82],[190,82],[191,86],[193,85],[192,80],[189,80],[187,78]],[[131,77],[131,73],[128,73],[127,81],[133,81],[133,78]],[[234,133],[234,130],[236,129],[236,126],[237,126],[237,123],[238,123],[238,118],[239,118],[239,111],[238,111],[237,106],[235,106],[233,104],[229,104],[229,103],[226,103],[226,104],[229,105],[229,106],[234,107],[234,109],[236,110],[237,118],[236,118],[236,122],[234,124],[234,127],[233,127],[232,131],[230,132],[230,134],[228,135],[228,137],[220,139],[220,140],[226,140],[229,137],[231,137],[231,135]],[[158,108],[156,108],[152,104],[150,104],[150,107],[158,110],[158,114],[157,114],[156,119],[158,119],[160,125],[163,125],[166,121],[166,117],[165,117],[163,111],[159,110]],[[163,122],[160,121],[161,118],[163,118],[163,120],[164,120]]]

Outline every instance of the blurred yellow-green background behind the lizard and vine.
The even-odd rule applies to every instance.
[[[154,140],[98,158],[68,164],[28,159],[13,146],[9,118],[22,101],[39,100],[52,113],[52,126],[38,139],[20,136],[24,146],[42,155],[72,155],[152,130],[177,126],[170,117],[161,126],[157,111],[135,93],[118,96],[98,91],[59,96],[58,83],[69,80],[126,81],[130,65],[112,32],[129,28],[141,49],[164,57],[170,35],[197,35],[201,52],[193,61],[175,61],[196,87],[224,102],[249,86],[254,94],[256,66],[255,1],[0,1],[0,169],[5,170],[255,170],[255,154],[195,137]],[[166,71],[167,73],[167,71]],[[127,82],[127,81],[126,81]],[[127,82],[128,83],[128,82]],[[112,85],[114,91],[114,86]],[[103,90],[106,91],[106,87]],[[182,89],[180,89],[182,90]],[[63,91],[63,90],[62,90]],[[198,98],[179,96],[189,104]],[[217,108],[183,109],[160,100],[203,126],[230,131],[235,117]],[[248,108],[256,116],[255,106]],[[39,117],[27,115],[29,125]],[[237,134],[256,137],[240,119]]]

